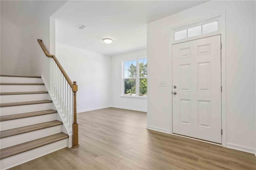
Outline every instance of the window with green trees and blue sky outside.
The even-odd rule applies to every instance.
[[[147,58],[123,61],[123,96],[147,97]]]

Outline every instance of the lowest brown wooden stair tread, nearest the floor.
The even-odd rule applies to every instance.
[[[14,156],[16,154],[20,154],[22,152],[26,152],[35,148],[39,148],[41,146],[45,146],[47,144],[51,144],[57,142],[62,139],[68,138],[68,135],[61,132],[57,134],[53,134],[50,136],[46,136],[43,138],[39,138],[36,140],[31,140],[29,142],[25,142],[22,144],[18,144],[15,146],[10,146],[8,148],[3,148],[0,150],[0,159],[8,158],[10,156]]]

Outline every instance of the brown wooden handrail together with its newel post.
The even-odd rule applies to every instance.
[[[71,81],[70,78],[68,77],[68,74],[66,73],[66,71],[63,69],[63,67],[61,66],[60,62],[58,61],[58,59],[55,57],[55,55],[52,55],[48,52],[48,50],[46,49],[46,47],[43,44],[43,41],[40,39],[37,39],[37,42],[39,43],[39,45],[41,46],[42,50],[44,51],[44,54],[46,55],[46,57],[50,57],[52,58],[56,65],[59,67],[60,71],[62,72],[63,76],[65,77],[66,81],[68,82],[68,84],[70,85],[72,91],[73,91],[73,99],[74,99],[74,103],[73,103],[73,113],[74,113],[74,119],[73,119],[73,125],[72,125],[72,146],[73,148],[79,146],[78,143],[78,123],[77,123],[77,116],[76,116],[76,92],[78,91],[78,85],[76,84],[76,81]]]

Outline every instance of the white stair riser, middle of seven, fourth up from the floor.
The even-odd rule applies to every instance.
[[[1,107],[0,112],[1,112],[1,116],[6,116],[6,115],[19,114],[19,113],[50,110],[52,108],[53,108],[52,103],[42,103],[42,104],[35,104],[35,105]]]

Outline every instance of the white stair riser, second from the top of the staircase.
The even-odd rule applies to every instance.
[[[47,91],[44,85],[1,85],[1,92]]]

